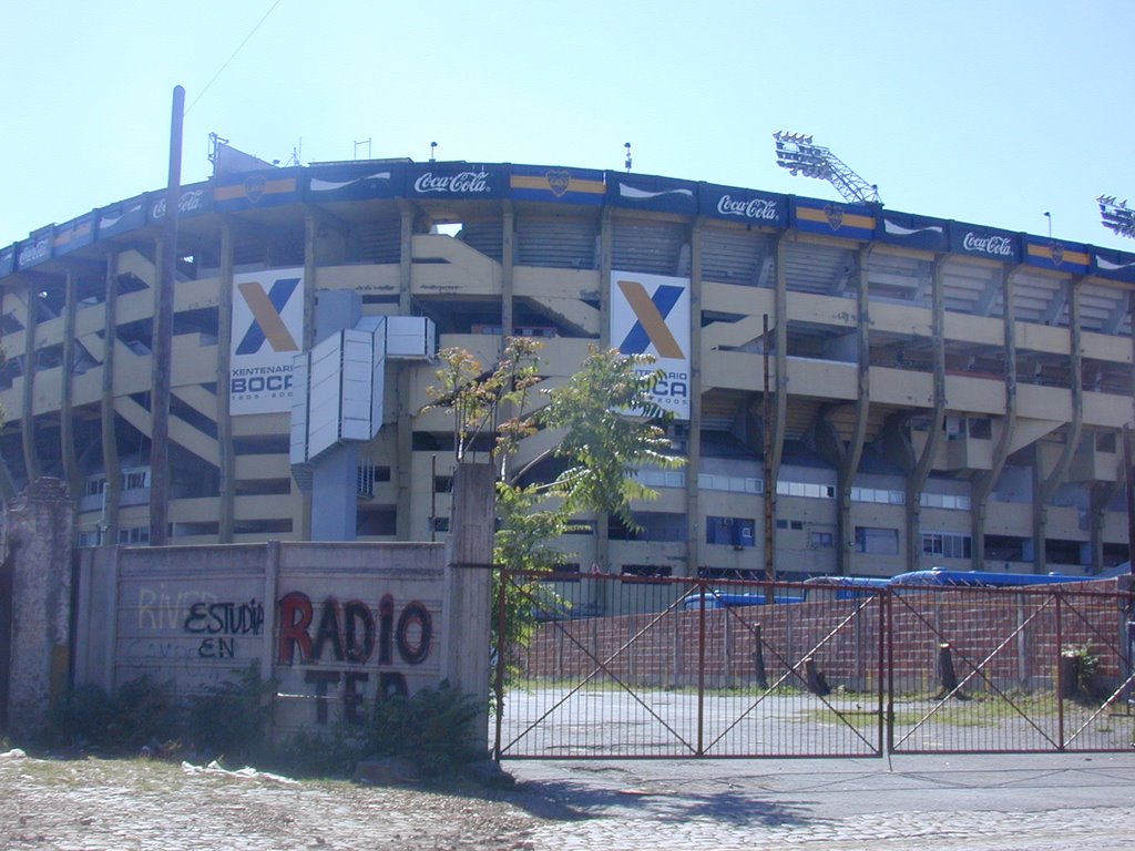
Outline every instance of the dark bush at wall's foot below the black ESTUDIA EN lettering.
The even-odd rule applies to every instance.
[[[210,686],[207,694],[191,697],[190,742],[197,751],[232,760],[262,753],[277,685],[275,680],[262,680],[259,666],[252,663],[236,682],[226,680]]]

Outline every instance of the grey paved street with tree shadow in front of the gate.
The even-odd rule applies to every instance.
[[[533,849],[1130,849],[1135,755],[516,761]],[[529,804],[530,808],[531,804]],[[539,812],[538,808],[536,811]]]

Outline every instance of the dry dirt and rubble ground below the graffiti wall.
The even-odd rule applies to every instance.
[[[14,751],[0,755],[0,848],[529,849],[541,819],[491,795]]]

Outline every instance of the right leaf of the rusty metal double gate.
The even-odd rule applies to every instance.
[[[928,588],[888,601],[890,752],[1132,750],[1128,593]]]

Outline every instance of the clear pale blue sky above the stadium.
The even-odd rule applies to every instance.
[[[839,199],[775,165],[812,134],[889,209],[1135,252],[1135,2],[53,0],[5,3],[0,244],[182,182],[209,134],[287,163],[632,170]],[[1045,212],[1050,217],[1045,217]]]

